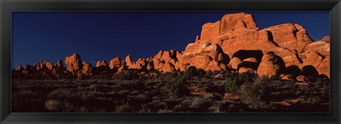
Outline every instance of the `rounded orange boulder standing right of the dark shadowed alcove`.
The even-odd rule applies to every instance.
[[[261,58],[261,63],[257,69],[257,74],[260,77],[271,77],[273,75],[283,74],[286,65],[281,57],[278,57],[274,52],[268,52]]]

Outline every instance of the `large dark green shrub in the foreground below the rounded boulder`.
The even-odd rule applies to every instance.
[[[259,77],[254,79],[254,81],[249,81],[242,86],[238,91],[240,100],[243,103],[254,106],[263,106],[269,101],[270,91],[267,88],[269,86],[270,80],[266,77]]]

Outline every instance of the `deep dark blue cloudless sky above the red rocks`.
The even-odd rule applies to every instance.
[[[12,68],[57,62],[79,53],[83,62],[131,55],[136,61],[160,50],[185,50],[204,23],[236,11],[13,11]],[[329,11],[246,11],[259,28],[299,23],[313,40],[330,35]]]

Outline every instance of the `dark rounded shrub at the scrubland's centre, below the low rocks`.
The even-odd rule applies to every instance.
[[[181,78],[180,76],[175,77],[174,79],[166,81],[165,85],[162,87],[162,91],[168,94],[187,94],[188,89],[186,86],[188,85],[188,81]]]

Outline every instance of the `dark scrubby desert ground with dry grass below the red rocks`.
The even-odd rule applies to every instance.
[[[225,76],[228,76],[225,75]],[[12,112],[58,113],[244,113],[329,112],[329,83],[269,80],[269,94],[251,96],[225,91],[224,79],[188,79],[190,94],[162,91],[168,77],[146,79],[12,80]],[[171,83],[171,82],[168,82]],[[257,88],[254,84],[251,88]],[[245,87],[245,86],[244,86]],[[255,89],[255,91],[259,88]],[[258,95],[258,96],[257,96]],[[243,102],[243,98],[253,99]],[[265,99],[264,99],[265,98]],[[293,101],[295,100],[295,101]],[[264,104],[254,104],[264,103]]]

